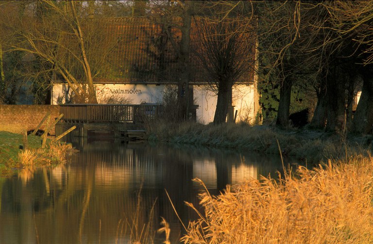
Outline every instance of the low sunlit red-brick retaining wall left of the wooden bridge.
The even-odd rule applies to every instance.
[[[22,130],[34,130],[45,114],[51,112],[51,118],[59,116],[58,105],[0,105],[0,130],[21,133]],[[40,128],[45,129],[45,121]],[[54,127],[50,132],[54,135]]]

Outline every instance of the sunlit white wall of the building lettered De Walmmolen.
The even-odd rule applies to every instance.
[[[154,84],[96,84],[99,103],[119,101],[127,104],[162,103],[167,85]],[[237,85],[233,88],[232,103],[237,110],[236,121],[254,122],[256,109],[254,85]],[[214,120],[217,96],[206,86],[193,86],[194,103],[197,109],[197,121],[208,124]],[[52,104],[68,103],[71,89],[67,84],[55,83],[52,89]]]

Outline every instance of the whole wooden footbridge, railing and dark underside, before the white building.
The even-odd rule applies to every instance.
[[[76,126],[71,136],[141,139],[147,123],[160,116],[160,104],[63,104],[56,136]]]

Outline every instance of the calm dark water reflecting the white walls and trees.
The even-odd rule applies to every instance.
[[[140,233],[145,223],[160,228],[160,216],[177,243],[183,229],[165,190],[187,225],[196,214],[184,201],[197,206],[201,191],[193,178],[216,194],[282,168],[277,156],[201,146],[86,140],[75,146],[80,152],[71,163],[0,178],[0,244],[127,243],[126,223],[134,227],[136,219]],[[156,234],[154,243],[163,241]]]

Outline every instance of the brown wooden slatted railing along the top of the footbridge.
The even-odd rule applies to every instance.
[[[62,122],[70,123],[143,123],[156,119],[160,104],[62,104]]]

